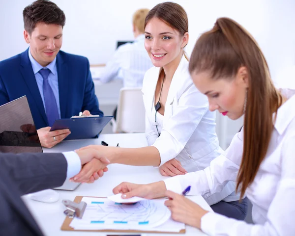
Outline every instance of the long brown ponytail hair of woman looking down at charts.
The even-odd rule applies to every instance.
[[[198,39],[189,62],[190,74],[207,71],[212,79],[234,79],[241,66],[247,68],[249,79],[243,155],[236,185],[237,191],[241,184],[243,196],[266,157],[272,114],[282,104],[282,96],[270,79],[266,59],[255,39],[232,19],[219,18]]]

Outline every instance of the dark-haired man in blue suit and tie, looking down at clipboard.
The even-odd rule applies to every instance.
[[[29,49],[0,62],[0,105],[26,95],[43,147],[70,134],[50,131],[54,121],[83,111],[100,115],[86,57],[59,51],[65,15],[49,0],[37,0],[23,11]]]

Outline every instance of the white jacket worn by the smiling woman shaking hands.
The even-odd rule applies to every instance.
[[[176,158],[187,172],[203,170],[223,150],[215,132],[215,112],[208,110],[207,97],[193,84],[188,61],[182,56],[173,76],[164,116],[157,113],[155,122],[154,94],[161,68],[152,67],[145,75],[143,100],[146,108],[146,137],[160,153],[161,163]],[[161,119],[162,118],[162,119]],[[158,126],[159,133],[156,130]],[[205,197],[209,205],[221,200],[236,201],[236,183],[230,181],[222,191]]]

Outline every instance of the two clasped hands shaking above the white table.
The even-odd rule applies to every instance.
[[[80,157],[82,169],[79,174],[70,179],[70,182],[93,183],[103,177],[104,172],[108,171],[107,165],[111,163],[107,158],[109,155],[104,151],[106,149],[98,145],[90,145],[75,150]]]

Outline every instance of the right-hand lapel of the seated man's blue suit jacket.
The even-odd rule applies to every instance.
[[[59,105],[60,105],[60,118],[69,118],[66,114],[67,99],[68,99],[68,67],[64,62],[60,52],[57,55],[57,69],[59,78]],[[69,98],[70,99],[70,98]]]

